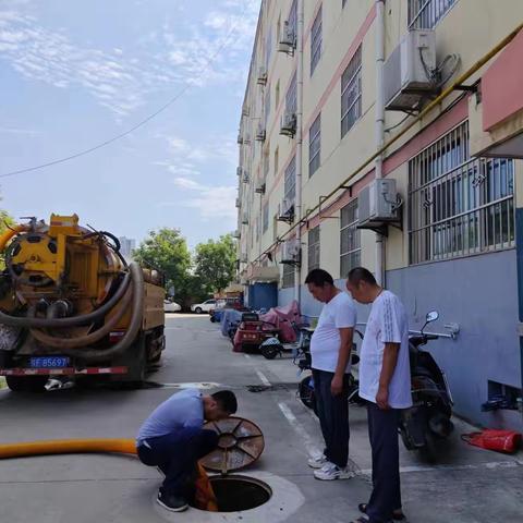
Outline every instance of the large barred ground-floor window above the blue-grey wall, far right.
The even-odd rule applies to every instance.
[[[469,122],[409,162],[411,265],[514,246],[514,163],[471,159]]]

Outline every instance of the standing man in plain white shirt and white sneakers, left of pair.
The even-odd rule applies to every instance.
[[[332,277],[314,269],[305,279],[311,294],[325,303],[311,339],[313,379],[318,417],[325,439],[324,454],[308,460],[317,479],[353,477],[349,460],[349,379],[356,308],[335,287]]]

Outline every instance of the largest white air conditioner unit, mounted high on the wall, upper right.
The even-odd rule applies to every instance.
[[[384,65],[385,108],[415,109],[419,100],[436,92],[436,34],[431,29],[410,31]]]

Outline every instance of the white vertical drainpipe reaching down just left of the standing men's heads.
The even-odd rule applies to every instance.
[[[297,219],[296,241],[302,251],[302,148],[303,148],[303,3],[304,0],[297,0],[297,31],[296,31],[296,202],[295,216]],[[300,257],[303,256],[300,254]],[[300,259],[301,262],[301,259]],[[302,285],[301,264],[294,271],[294,300],[300,303]]]

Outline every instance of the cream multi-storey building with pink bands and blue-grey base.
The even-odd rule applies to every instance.
[[[439,312],[455,410],[489,426],[523,425],[482,412],[521,409],[522,22],[520,0],[264,0],[239,134],[247,294],[314,316],[308,270],[369,268],[412,329]]]

